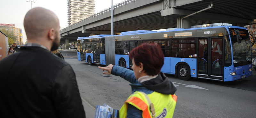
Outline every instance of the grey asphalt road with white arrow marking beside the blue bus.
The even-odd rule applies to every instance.
[[[131,94],[129,82],[114,75],[103,75],[98,66],[89,66],[77,60],[76,51],[61,51],[66,62],[76,73],[87,118],[93,118],[96,105],[103,103],[120,109]],[[255,76],[233,82],[205,79],[182,81],[173,75],[167,77],[177,88],[178,96],[173,118],[255,118]],[[93,111],[94,110],[94,111]]]

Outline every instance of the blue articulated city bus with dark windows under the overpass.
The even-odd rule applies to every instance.
[[[77,39],[79,61],[131,68],[129,52],[142,43],[154,43],[164,53],[163,73],[234,81],[252,75],[252,48],[244,27],[215,26],[172,31],[129,31]]]

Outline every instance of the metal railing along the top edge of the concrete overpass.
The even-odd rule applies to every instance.
[[[116,8],[118,8],[118,7],[124,6],[124,5],[126,5],[126,4],[130,4],[130,3],[134,2],[134,1],[137,1],[137,0],[125,0],[125,1],[123,1],[123,2],[121,2],[121,3],[119,3],[119,4],[113,5],[113,10],[116,9]],[[105,9],[105,10],[102,10],[102,11],[100,11],[100,12],[98,12],[98,13],[95,13],[94,15],[91,15],[91,16],[89,16],[89,17],[87,17],[87,18],[84,18],[84,19],[82,19],[82,20],[80,20],[80,21],[77,21],[76,23],[74,23],[74,24],[72,24],[72,25],[69,25],[69,26],[67,26],[66,28],[63,28],[61,31],[65,30],[65,29],[68,29],[69,27],[75,26],[76,24],[79,24],[79,23],[81,23],[81,22],[84,22],[85,20],[88,20],[88,19],[91,19],[91,18],[93,18],[93,17],[96,17],[96,16],[98,16],[98,15],[100,15],[100,14],[106,13],[106,12],[108,12],[108,11],[111,11],[111,7],[107,8],[107,9]]]

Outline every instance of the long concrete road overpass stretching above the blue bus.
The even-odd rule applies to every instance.
[[[256,0],[126,0],[114,6],[114,34],[220,22],[249,25],[256,19],[255,5]],[[64,28],[61,44],[98,34],[111,34],[111,7]]]

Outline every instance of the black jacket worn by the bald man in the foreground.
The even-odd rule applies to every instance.
[[[1,118],[85,118],[74,70],[49,50],[21,47],[0,75]]]

